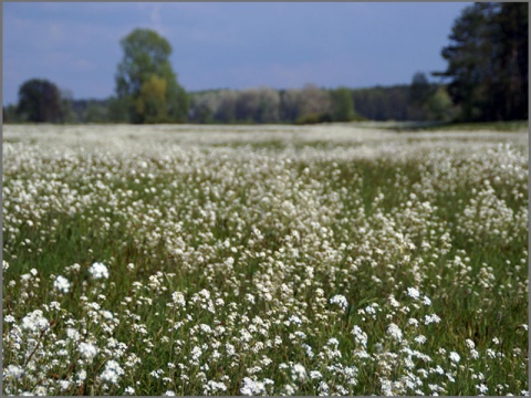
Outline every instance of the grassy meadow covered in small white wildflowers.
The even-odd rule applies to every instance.
[[[528,395],[527,129],[4,126],[4,395]]]

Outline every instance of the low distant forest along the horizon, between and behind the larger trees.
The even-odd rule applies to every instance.
[[[421,74],[419,74],[421,75]],[[423,75],[421,75],[423,76]],[[188,93],[188,123],[312,124],[350,121],[448,121],[454,106],[441,85],[300,90],[268,87]],[[427,101],[426,101],[427,98]],[[17,122],[14,107],[4,122]],[[69,100],[65,123],[127,123],[115,98]],[[7,117],[6,117],[7,116]],[[11,117],[10,117],[11,116]],[[11,119],[11,121],[10,121]]]

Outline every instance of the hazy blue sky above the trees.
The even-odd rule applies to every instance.
[[[114,93],[119,40],[135,28],[171,44],[187,91],[368,87],[441,71],[440,50],[471,2],[4,2],[2,103],[48,78],[74,98]]]

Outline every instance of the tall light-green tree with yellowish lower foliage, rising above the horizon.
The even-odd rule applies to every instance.
[[[121,44],[124,57],[117,69],[116,94],[129,121],[185,122],[188,97],[169,62],[169,42],[152,30],[136,29]]]

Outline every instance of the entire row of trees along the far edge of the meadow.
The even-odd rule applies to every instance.
[[[528,3],[475,3],[456,19],[441,50],[446,71],[430,81],[368,88],[209,90],[187,93],[169,62],[171,45],[136,29],[121,41],[115,95],[73,100],[54,83],[33,78],[4,123],[483,122],[528,118]]]

